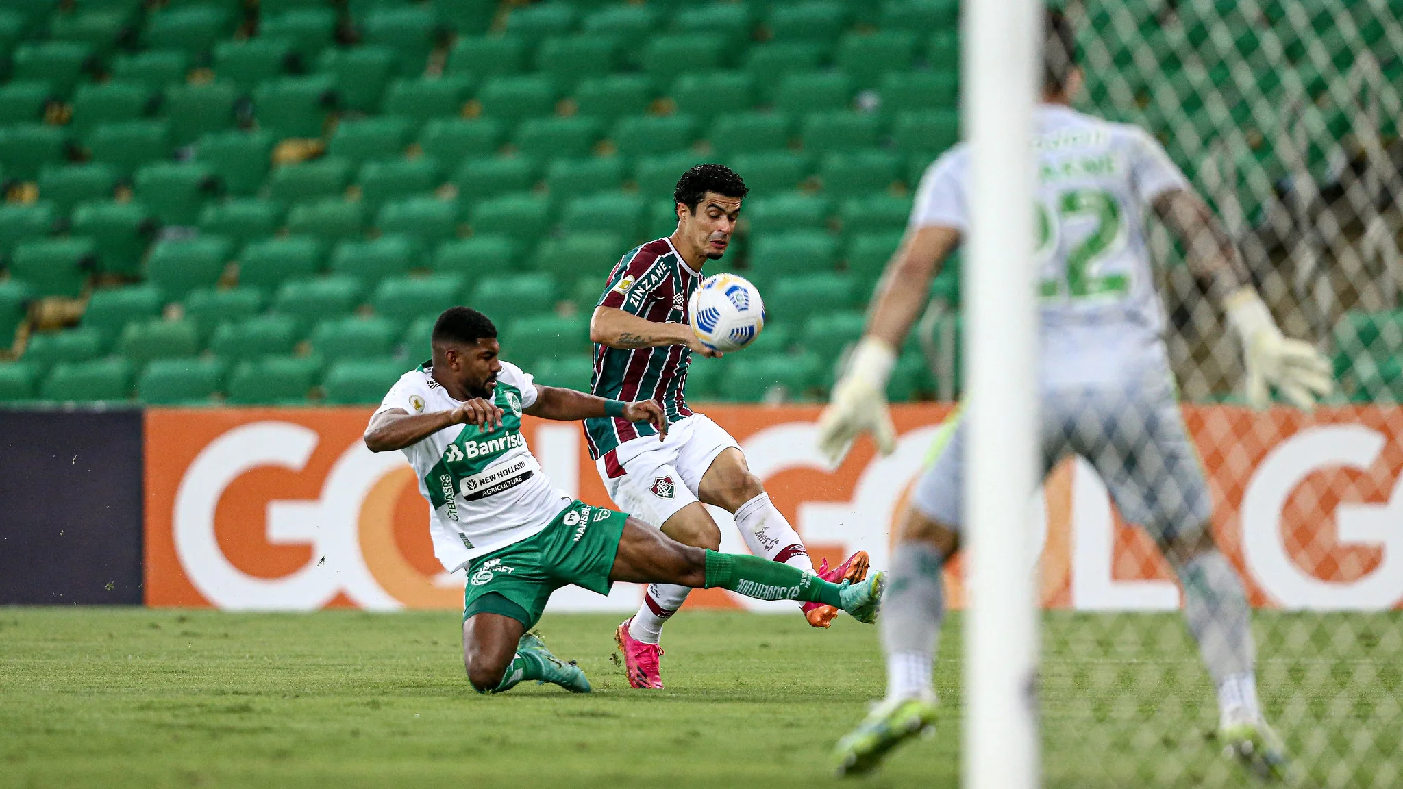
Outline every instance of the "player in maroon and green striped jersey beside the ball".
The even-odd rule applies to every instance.
[[[599,397],[657,400],[669,430],[659,441],[645,423],[585,420],[589,455],[605,489],[620,510],[659,524],[672,539],[699,548],[721,545],[721,531],[703,504],[735,515],[735,525],[756,556],[814,570],[798,533],[770,503],[759,477],[731,435],[687,407],[683,386],[692,354],[720,357],[687,326],[692,293],[702,265],[725,254],[745,199],[745,181],[720,164],[700,164],[682,174],[672,197],[678,229],[672,236],[630,250],[609,274],[589,321],[595,343],[591,390]],[[860,581],[867,555],[853,553],[838,567],[826,562],[825,580]],[[629,684],[661,688],[658,642],[662,623],[686,599],[687,587],[652,584],[638,612],[615,635]],[[831,605],[803,606],[808,623],[826,628],[838,615]]]

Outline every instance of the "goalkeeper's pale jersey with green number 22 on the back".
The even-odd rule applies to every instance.
[[[1146,209],[1190,188],[1148,132],[1044,104],[1035,115],[1037,265],[1044,383],[1096,383],[1127,362],[1167,359]],[[912,227],[968,230],[969,147],[946,152],[920,181]],[[1141,366],[1141,365],[1132,365]]]

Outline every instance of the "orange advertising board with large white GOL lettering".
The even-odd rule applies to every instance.
[[[854,549],[884,566],[888,533],[948,406],[897,406],[899,444],[859,442],[838,469],[815,446],[812,406],[713,406],[751,469],[815,557]],[[361,442],[369,409],[159,409],[146,414],[146,602],[306,611],[462,606],[462,574],[434,559],[428,504],[398,452]],[[1403,409],[1186,407],[1209,472],[1214,529],[1258,606],[1403,606]],[[575,423],[528,417],[523,432],[557,487],[610,505]],[[1152,541],[1114,514],[1083,462],[1063,462],[1028,528],[1049,608],[1176,608],[1179,590]],[[744,552],[734,524],[723,550]],[[1013,560],[1013,557],[1010,557]],[[1031,569],[1031,560],[1030,560]],[[962,602],[960,562],[948,567]],[[607,598],[561,590],[556,611],[630,609],[640,587]],[[788,609],[720,590],[689,605]]]

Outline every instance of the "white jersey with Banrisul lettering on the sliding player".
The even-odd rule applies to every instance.
[[[462,404],[449,397],[434,368],[412,369],[390,387],[376,413],[401,409],[411,414],[449,411]],[[516,365],[502,362],[492,400],[502,424],[483,432],[477,425],[450,425],[404,448],[428,500],[434,556],[452,573],[470,559],[521,542],[550,524],[571,498],[551,487],[522,435],[522,409],[536,402],[536,385]]]

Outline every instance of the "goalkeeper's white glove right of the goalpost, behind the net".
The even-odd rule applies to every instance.
[[[1310,409],[1334,387],[1330,361],[1309,343],[1281,333],[1271,310],[1251,288],[1228,296],[1228,323],[1242,338],[1247,366],[1247,403],[1271,404],[1271,386],[1298,409]]]

